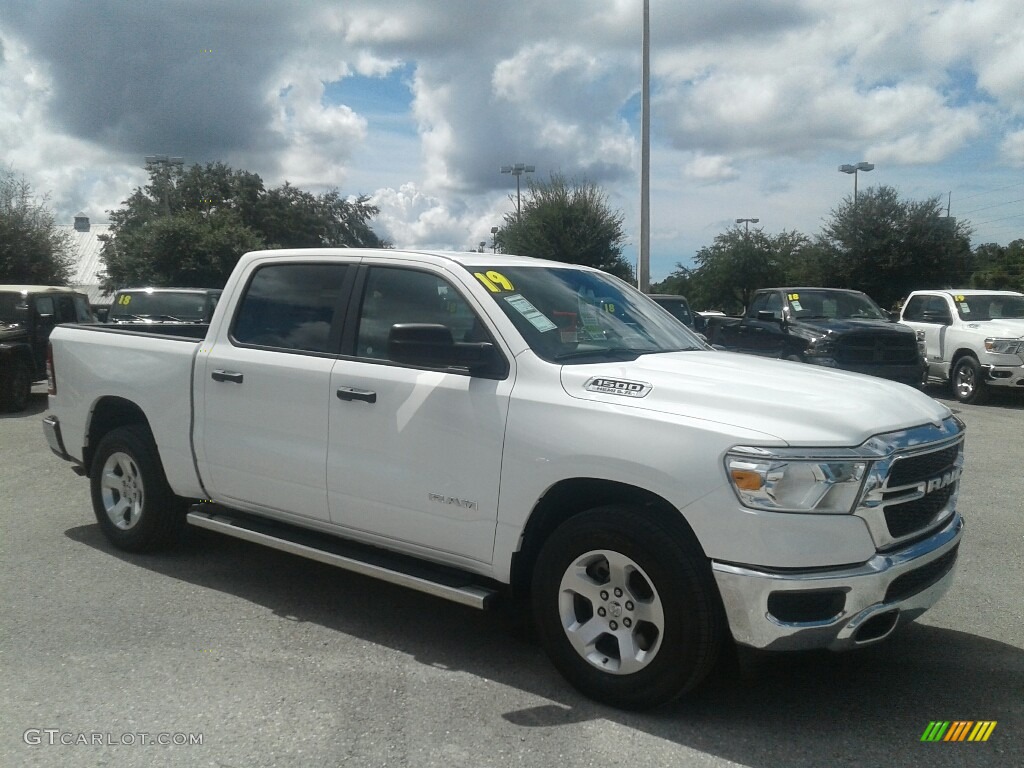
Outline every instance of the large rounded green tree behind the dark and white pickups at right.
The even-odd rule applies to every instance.
[[[818,241],[830,266],[824,285],[855,288],[888,307],[914,289],[965,282],[971,228],[942,212],[938,197],[903,200],[891,186],[847,198]]]

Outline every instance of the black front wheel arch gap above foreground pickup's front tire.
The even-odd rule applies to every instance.
[[[675,526],[703,547],[683,514],[665,498],[645,488],[598,477],[560,480],[537,502],[523,528],[519,549],[512,556],[510,588],[516,597],[529,593],[534,566],[544,542],[559,525],[582,512],[608,504],[644,508],[667,525]]]

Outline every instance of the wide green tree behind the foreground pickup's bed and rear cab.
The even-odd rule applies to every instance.
[[[386,247],[370,226],[378,209],[337,190],[313,195],[223,163],[147,166],[150,183],[111,212],[105,290],[224,285],[239,257],[261,248]]]

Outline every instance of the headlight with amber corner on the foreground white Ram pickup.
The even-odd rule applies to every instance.
[[[869,462],[804,453],[791,458],[764,449],[733,449],[725,470],[739,503],[771,512],[852,512]]]

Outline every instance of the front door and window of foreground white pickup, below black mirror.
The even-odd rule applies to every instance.
[[[513,377],[470,376],[392,361],[397,323],[496,341],[471,294],[415,263],[360,267],[351,335],[331,375],[331,519],[367,541],[440,559],[489,563]]]

